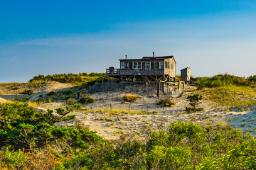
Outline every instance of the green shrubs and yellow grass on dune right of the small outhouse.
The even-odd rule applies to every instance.
[[[199,77],[196,79],[198,89],[210,101],[220,106],[252,106],[256,104],[256,75],[247,79],[228,74],[220,74],[214,77]]]

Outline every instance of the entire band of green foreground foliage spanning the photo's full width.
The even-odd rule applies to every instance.
[[[224,123],[213,127],[171,122],[166,130],[146,130],[143,141],[121,137],[114,146],[86,128],[53,126],[64,119],[68,118],[55,117],[50,112],[40,113],[26,105],[1,104],[0,168],[33,169],[33,164],[39,164],[43,157],[47,157],[44,164],[36,167],[256,169],[255,138]],[[58,149],[54,149],[57,146]],[[52,149],[42,152],[45,147]],[[36,157],[40,153],[41,156]],[[53,155],[54,159],[51,159]],[[33,160],[36,163],[31,163]],[[49,164],[51,161],[55,163]]]

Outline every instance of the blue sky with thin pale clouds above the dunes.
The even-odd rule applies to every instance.
[[[0,0],[0,82],[174,55],[176,74],[256,74],[256,1]]]

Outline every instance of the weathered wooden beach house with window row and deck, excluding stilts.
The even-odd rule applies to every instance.
[[[176,77],[174,56],[142,57],[141,59],[119,60],[119,69],[107,69],[109,77],[118,78],[121,82],[154,83],[172,81]]]

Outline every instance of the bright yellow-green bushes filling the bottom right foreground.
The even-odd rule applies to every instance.
[[[255,169],[256,140],[218,125],[171,122],[144,142],[100,145],[60,164],[63,169]],[[125,137],[122,138],[125,140]]]

